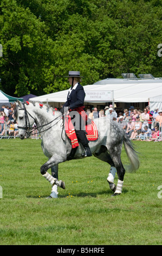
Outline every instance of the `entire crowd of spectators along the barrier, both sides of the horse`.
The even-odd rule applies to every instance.
[[[17,122],[14,118],[14,107],[14,105],[11,105],[11,107],[3,105],[1,108],[0,137],[11,136],[16,138],[18,136]],[[59,108],[55,107],[56,110],[59,110]],[[158,109],[158,107],[150,111],[150,106],[147,106],[141,111],[131,106],[129,109],[124,109],[124,111],[117,113],[113,105],[109,105],[100,111],[96,107],[88,108],[86,113],[88,118],[92,120],[105,117],[118,122],[132,140],[155,141],[159,138],[159,132],[162,133],[162,109]]]

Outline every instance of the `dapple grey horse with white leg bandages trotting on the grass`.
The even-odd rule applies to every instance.
[[[67,160],[72,149],[70,139],[64,131],[64,121],[59,111],[53,111],[48,105],[39,102],[16,102],[14,115],[18,122],[18,135],[21,139],[29,136],[35,123],[42,138],[42,150],[48,161],[41,166],[41,174],[52,186],[49,198],[57,198],[57,186],[65,188],[64,182],[58,180],[58,164]],[[107,177],[109,187],[114,192],[113,196],[121,194],[125,171],[135,172],[139,168],[139,159],[133,143],[116,121],[106,117],[96,118],[98,139],[90,141],[89,147],[92,154],[98,159],[107,162],[111,168]],[[121,149],[124,144],[129,165],[123,166],[121,162]],[[77,147],[74,159],[81,159],[83,147]],[[47,170],[51,168],[51,175]],[[115,173],[118,174],[117,186],[114,184]]]

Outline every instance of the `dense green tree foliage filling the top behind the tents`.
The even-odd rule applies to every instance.
[[[57,92],[69,70],[81,71],[82,85],[122,72],[161,77],[161,2],[2,0],[1,89]]]

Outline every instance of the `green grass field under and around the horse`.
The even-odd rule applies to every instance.
[[[162,142],[134,144],[140,168],[125,174],[120,196],[111,197],[108,164],[89,157],[60,164],[66,190],[58,188],[59,198],[48,200],[41,140],[2,139],[0,245],[161,245]]]

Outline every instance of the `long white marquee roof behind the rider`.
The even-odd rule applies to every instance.
[[[161,78],[154,79],[134,79],[127,80],[123,78],[107,78],[94,84],[83,87],[85,93],[113,91],[114,102],[148,102],[150,97],[162,94]],[[66,102],[68,90],[51,93],[35,97],[33,101],[41,102]],[[108,102],[112,100],[98,100],[89,98],[85,102]]]

